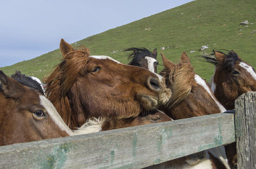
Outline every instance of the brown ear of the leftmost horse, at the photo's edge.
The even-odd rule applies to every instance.
[[[24,87],[22,87],[16,80],[7,77],[3,71],[0,70],[0,84],[1,90],[7,98],[20,98],[24,92]]]

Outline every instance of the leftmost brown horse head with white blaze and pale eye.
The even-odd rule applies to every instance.
[[[0,71],[0,145],[74,135],[40,92]]]

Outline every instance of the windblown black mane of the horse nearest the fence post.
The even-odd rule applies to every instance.
[[[230,68],[232,68],[232,66],[236,64],[236,61],[241,62],[241,59],[236,54],[236,52],[234,52],[234,50],[227,50],[227,51],[228,51],[227,54],[221,51],[216,51],[225,55],[225,60],[221,65],[220,63],[218,63],[216,57],[214,56],[214,50],[212,54],[209,54],[209,55],[205,54],[205,55],[202,55],[201,57],[204,58],[206,62],[210,62],[211,64],[214,64],[214,66],[220,66],[220,70],[230,70]]]

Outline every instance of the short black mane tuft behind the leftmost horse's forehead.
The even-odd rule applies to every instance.
[[[35,91],[40,92],[44,95],[44,91],[41,85],[36,82],[36,80],[33,80],[33,78],[26,77],[26,75],[22,74],[20,71],[16,71],[15,74],[11,76],[11,78],[15,79],[20,84],[31,87],[32,89],[35,89]]]

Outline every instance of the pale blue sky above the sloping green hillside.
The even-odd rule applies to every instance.
[[[2,1],[0,67],[51,52],[61,38],[74,43],[190,1]]]

